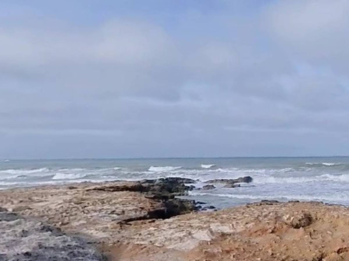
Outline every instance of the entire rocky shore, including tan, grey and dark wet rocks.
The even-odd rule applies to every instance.
[[[208,181],[234,189],[251,177]],[[349,209],[263,201],[214,212],[194,180],[0,191],[0,260],[349,260]]]

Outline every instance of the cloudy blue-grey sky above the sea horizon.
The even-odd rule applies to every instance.
[[[349,155],[347,0],[2,0],[0,158]]]

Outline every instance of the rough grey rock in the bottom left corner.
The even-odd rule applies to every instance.
[[[22,216],[16,215],[16,222],[2,220],[0,234],[0,260],[106,260],[84,239],[67,236],[54,227]]]

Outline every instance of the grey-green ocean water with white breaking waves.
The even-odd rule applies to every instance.
[[[251,176],[239,188],[193,190],[186,198],[218,208],[268,200],[349,205],[349,157],[0,160],[0,189],[42,184]]]

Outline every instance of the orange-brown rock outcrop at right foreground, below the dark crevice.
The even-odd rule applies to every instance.
[[[349,260],[348,223],[346,207],[265,201],[130,226],[112,250],[119,260]]]

